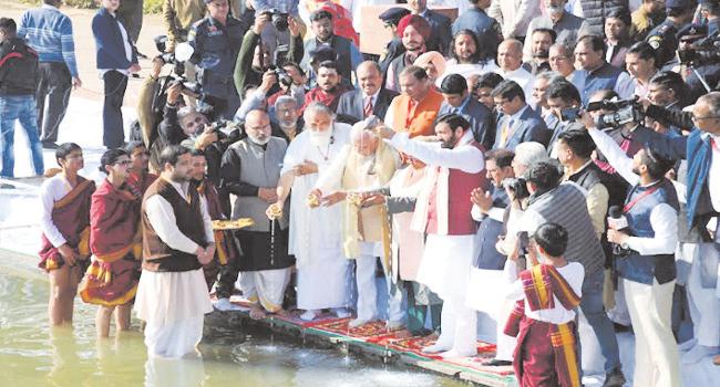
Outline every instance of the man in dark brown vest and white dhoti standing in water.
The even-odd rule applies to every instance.
[[[162,174],[143,198],[135,311],[146,323],[148,357],[179,358],[196,351],[204,315],[213,311],[202,268],[213,259],[215,242],[207,203],[191,185],[191,150],[169,145],[160,164]]]

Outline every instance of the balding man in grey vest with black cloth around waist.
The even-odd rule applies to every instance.
[[[288,143],[270,136],[270,117],[264,111],[247,114],[245,132],[247,137],[225,151],[222,174],[225,186],[235,196],[233,219],[255,221],[236,233],[244,252],[237,270],[243,272],[243,294],[253,303],[250,317],[263,318],[266,312],[285,313],[282,299],[295,263],[288,255],[288,212],[271,221],[265,216],[268,205],[277,201],[276,187]],[[237,271],[229,276],[237,279]],[[224,297],[229,297],[232,287],[227,291]]]

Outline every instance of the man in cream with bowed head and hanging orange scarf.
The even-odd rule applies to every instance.
[[[342,207],[342,247],[344,255],[356,261],[358,286],[358,316],[350,327],[358,327],[379,317],[376,289],[377,257],[380,257],[385,279],[390,273],[390,224],[384,206],[364,207],[359,194],[377,190],[389,184],[400,167],[400,155],[382,142],[367,121],[352,126],[350,145],[346,145],[332,166],[325,171],[313,196],[320,202]],[[388,281],[390,284],[390,281]],[[404,313],[401,299],[390,300],[388,327],[398,330],[403,325]]]

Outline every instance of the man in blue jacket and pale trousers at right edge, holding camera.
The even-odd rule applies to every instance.
[[[651,108],[648,108],[649,113]],[[687,281],[690,316],[695,325],[695,338],[681,346],[695,346],[682,356],[685,364],[697,363],[720,351],[720,303],[717,295],[720,232],[717,227],[712,230],[709,226],[713,219],[720,218],[720,190],[716,188],[720,186],[720,93],[701,96],[692,114],[678,112],[676,117],[683,119],[672,124],[681,125],[688,116],[693,124],[688,136],[661,136],[650,142],[654,149],[688,163],[687,178],[681,181],[687,186],[687,205],[679,224],[682,243],[678,254],[678,281]]]

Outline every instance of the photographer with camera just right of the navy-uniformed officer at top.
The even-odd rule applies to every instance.
[[[275,55],[274,57],[268,52],[267,43],[260,38],[263,31],[268,28],[270,19],[271,15],[269,13],[256,14],[253,28],[247,31],[243,38],[243,45],[237,55],[233,74],[235,88],[239,94],[241,94],[248,85],[260,85],[264,83],[264,74],[268,72],[274,72],[277,81],[271,85],[272,87],[270,90],[266,91],[266,95],[271,95],[278,92],[281,84],[285,84],[289,90],[291,84],[300,81],[290,77],[288,72],[284,69],[284,65],[288,62],[298,63],[298,61],[302,60],[305,49],[302,45],[302,36],[300,34],[300,24],[295,18],[288,19],[288,30],[292,36],[290,40],[290,49],[287,56],[278,57]]]

